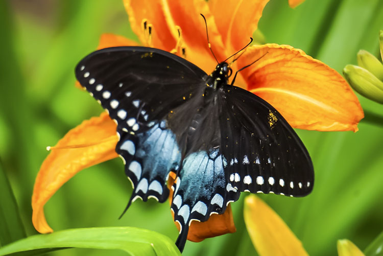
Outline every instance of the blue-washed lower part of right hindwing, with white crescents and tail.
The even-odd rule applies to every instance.
[[[212,213],[222,214],[228,202],[235,201],[239,192],[228,190],[219,149],[199,151],[188,155],[173,185],[172,210],[174,220],[181,226],[176,245],[185,245],[192,220],[206,221]]]

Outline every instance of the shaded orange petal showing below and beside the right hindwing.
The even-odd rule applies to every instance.
[[[167,180],[167,187],[171,188],[174,180],[176,179],[175,173],[171,172],[169,175],[169,179]],[[173,191],[170,190],[169,202],[172,205],[173,199]],[[174,219],[174,213],[172,212],[172,216]],[[180,230],[180,226],[178,222],[174,222]],[[205,222],[192,221],[189,226],[189,232],[187,234],[187,240],[192,242],[201,242],[205,238],[217,237],[221,235],[225,235],[228,233],[234,233],[236,231],[233,214],[231,212],[230,204],[227,206],[224,214],[213,214],[210,218]]]

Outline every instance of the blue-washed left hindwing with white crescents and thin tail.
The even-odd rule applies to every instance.
[[[127,208],[137,198],[147,201],[153,197],[164,202],[169,197],[166,179],[170,171],[178,170],[181,153],[174,133],[166,128],[165,122],[145,133],[124,133],[116,152],[125,161],[125,172],[134,189]]]

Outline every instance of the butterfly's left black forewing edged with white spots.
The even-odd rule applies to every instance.
[[[186,102],[205,76],[176,55],[143,47],[96,51],[76,67],[81,85],[109,111],[118,129],[135,133]]]

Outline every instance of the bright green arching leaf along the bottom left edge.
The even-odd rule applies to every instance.
[[[99,227],[31,236],[0,248],[0,256],[16,252],[36,255],[54,248],[68,247],[120,249],[128,255],[181,255],[170,238],[157,232],[136,227]]]

